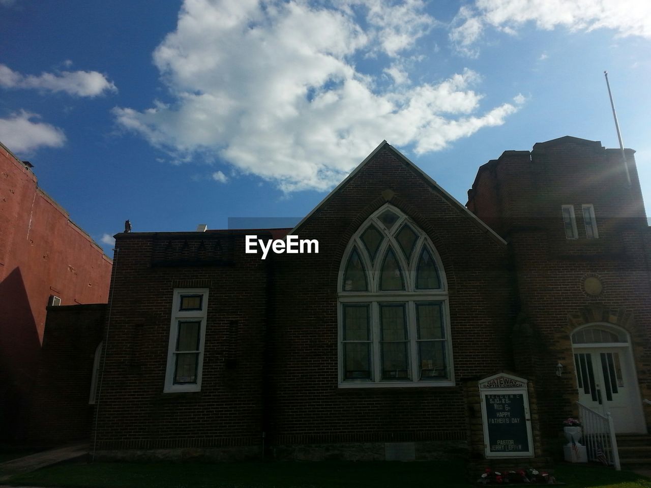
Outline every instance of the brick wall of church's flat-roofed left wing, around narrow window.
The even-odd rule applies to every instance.
[[[118,234],[116,247],[97,448],[260,444],[268,261],[241,233]],[[174,288],[209,288],[201,392],[163,393]]]

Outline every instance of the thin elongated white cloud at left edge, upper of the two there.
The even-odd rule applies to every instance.
[[[105,92],[117,92],[113,82],[96,71],[63,71],[59,74],[23,75],[0,64],[0,87],[32,88],[70,95],[94,97]]]

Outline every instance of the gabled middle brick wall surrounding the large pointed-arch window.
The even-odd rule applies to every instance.
[[[337,277],[353,233],[387,200],[434,243],[448,279],[456,386],[337,387]],[[270,430],[278,444],[464,439],[462,383],[512,368],[506,248],[390,148],[376,154],[298,232],[318,255],[275,259]]]

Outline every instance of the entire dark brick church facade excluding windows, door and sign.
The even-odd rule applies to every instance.
[[[616,152],[574,138],[482,166],[468,208],[503,239],[389,144],[295,229],[318,240],[318,254],[245,254],[245,234],[288,229],[118,234],[96,450],[220,457],[264,444],[276,457],[376,459],[385,442],[415,442],[419,459],[468,444],[480,455],[477,380],[511,371],[533,385],[536,455],[546,455],[546,439],[576,414],[573,324],[602,319],[631,332],[651,398],[648,230],[628,155],[632,189]],[[453,386],[339,386],[340,266],[387,202],[426,232],[445,269]],[[577,206],[579,239],[564,235],[563,204]],[[581,204],[594,204],[599,239],[580,238]],[[588,276],[602,295],[585,293]],[[163,392],[175,288],[209,290],[200,392]]]

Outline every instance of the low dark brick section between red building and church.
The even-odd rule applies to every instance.
[[[102,342],[106,304],[48,307],[43,347],[32,394],[29,439],[40,444],[90,435],[92,366]]]

